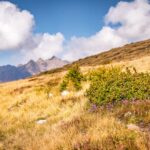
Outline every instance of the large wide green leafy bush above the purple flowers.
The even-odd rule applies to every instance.
[[[135,71],[134,71],[135,72]],[[102,105],[121,100],[150,99],[150,74],[122,72],[121,68],[100,68],[90,74],[87,97]]]

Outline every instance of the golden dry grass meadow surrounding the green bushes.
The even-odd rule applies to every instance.
[[[140,52],[133,50],[140,49],[139,43],[127,46],[132,47],[132,54],[138,53],[131,61],[131,53],[126,53],[125,60],[100,66],[133,66],[137,72],[148,72],[148,43],[142,42],[142,49],[145,45],[147,50]],[[88,65],[94,57],[79,61],[84,75],[99,67],[97,61]],[[89,80],[82,83],[81,91],[71,90],[62,96],[60,83],[66,71],[52,72],[0,84],[0,150],[150,149],[150,100],[96,106],[85,96]]]

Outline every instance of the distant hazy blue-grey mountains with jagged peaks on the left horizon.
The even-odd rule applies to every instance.
[[[23,79],[40,72],[63,67],[68,63],[69,62],[53,56],[47,60],[41,58],[37,61],[30,60],[28,63],[17,67],[12,65],[0,66],[0,82]]]

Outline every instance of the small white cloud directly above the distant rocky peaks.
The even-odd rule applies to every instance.
[[[31,42],[32,41],[32,42]],[[54,55],[58,55],[63,51],[64,37],[61,33],[50,35],[48,33],[37,34],[30,38],[27,46],[23,46],[23,61],[29,59],[44,58],[48,59]]]

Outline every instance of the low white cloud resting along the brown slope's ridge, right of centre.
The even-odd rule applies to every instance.
[[[85,38],[73,37],[66,45],[66,53],[63,58],[67,60],[76,60],[80,57],[90,56],[101,51],[109,50],[127,43],[116,34],[116,31],[105,26],[95,35]]]

